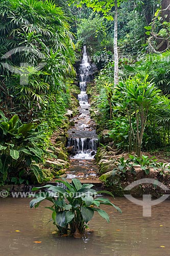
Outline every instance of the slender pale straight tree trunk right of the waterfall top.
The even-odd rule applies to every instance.
[[[118,51],[117,51],[117,0],[114,0],[114,86],[118,84]]]

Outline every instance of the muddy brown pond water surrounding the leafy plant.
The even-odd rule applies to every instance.
[[[82,239],[52,234],[55,226],[46,225],[51,211],[44,208],[50,202],[44,201],[37,209],[30,209],[29,201],[28,198],[0,198],[1,256],[170,255],[170,201],[153,206],[152,217],[144,218],[141,206],[116,198],[114,203],[123,214],[105,207],[110,223],[96,214],[89,224],[91,232]]]

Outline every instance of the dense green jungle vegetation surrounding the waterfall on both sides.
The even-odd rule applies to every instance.
[[[39,163],[74,108],[83,44],[98,68],[99,133],[138,157],[168,147],[169,22],[167,0],[1,1],[0,184],[45,179]]]

